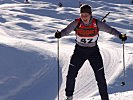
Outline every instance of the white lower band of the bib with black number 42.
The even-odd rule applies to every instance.
[[[88,43],[91,43],[91,42],[96,42],[98,39],[98,35],[94,36],[94,37],[80,37],[80,36],[76,36],[76,40],[77,42],[80,42],[80,43],[84,43],[84,44],[88,44]]]

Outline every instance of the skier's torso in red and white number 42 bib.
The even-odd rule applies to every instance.
[[[76,19],[78,26],[75,29],[76,41],[82,46],[89,46],[89,44],[96,44],[99,36],[98,26],[96,24],[96,19],[92,18],[89,25],[84,25],[80,19]]]

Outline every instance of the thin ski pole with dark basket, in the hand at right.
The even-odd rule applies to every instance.
[[[124,37],[125,34],[122,34],[122,37]],[[121,82],[121,86],[125,85],[125,79],[126,79],[126,73],[125,73],[125,51],[124,51],[124,41],[122,41],[122,47],[123,47],[123,75],[124,75],[124,81]]]

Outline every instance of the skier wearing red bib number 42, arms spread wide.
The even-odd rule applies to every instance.
[[[127,36],[123,36],[116,29],[98,19],[95,19],[92,16],[91,7],[87,4],[83,4],[80,7],[80,18],[75,19],[66,28],[61,30],[61,32],[56,32],[55,38],[66,36],[73,30],[75,30],[76,35],[76,45],[68,69],[65,89],[67,96],[66,100],[73,100],[75,78],[77,77],[79,69],[86,60],[90,62],[94,71],[101,99],[109,100],[103,60],[97,45],[97,40],[100,34],[99,31],[115,35],[122,41],[127,40]]]

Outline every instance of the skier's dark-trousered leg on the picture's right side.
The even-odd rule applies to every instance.
[[[94,71],[101,99],[109,100],[107,93],[107,84],[104,75],[103,61],[99,50],[95,54],[91,55],[88,60],[90,61],[90,65],[92,66],[92,69]]]

